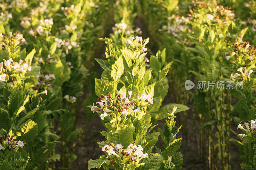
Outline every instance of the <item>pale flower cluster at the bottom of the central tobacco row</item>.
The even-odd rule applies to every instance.
[[[124,160],[128,159],[131,160],[132,162],[134,161],[137,163],[139,163],[139,161],[143,158],[148,158],[148,153],[143,153],[143,148],[141,147],[141,145],[136,145],[135,142],[130,144],[126,149],[123,149],[123,147],[124,146],[122,144],[116,144],[116,146],[114,146],[112,143],[110,143],[109,145],[106,144],[105,146],[103,146],[101,151],[107,152],[109,156],[115,155],[115,157],[119,157]],[[110,165],[112,166],[113,159],[110,162]]]

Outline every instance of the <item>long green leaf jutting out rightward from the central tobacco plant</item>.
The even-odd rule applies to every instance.
[[[156,114],[155,119],[156,120],[161,120],[164,119],[168,113],[172,113],[172,108],[176,106],[177,110],[175,113],[179,113],[185,110],[188,110],[189,107],[182,105],[182,104],[176,104],[176,103],[169,103],[167,105],[164,105],[163,107],[160,108],[159,112]]]

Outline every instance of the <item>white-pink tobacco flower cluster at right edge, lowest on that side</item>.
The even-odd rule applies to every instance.
[[[255,120],[255,121],[256,121],[256,120]],[[247,123],[244,122],[244,121],[240,122],[239,125],[238,125],[238,127],[237,127],[237,129],[242,129],[242,130],[244,130],[247,134],[238,134],[237,136],[238,136],[238,137],[242,137],[242,138],[243,138],[243,137],[252,137],[252,134],[254,134],[254,132],[256,131],[256,124],[255,124],[255,121],[254,121],[254,120],[251,120],[251,121],[247,121]],[[250,125],[250,127],[249,127],[249,125]],[[246,129],[245,129],[243,126],[245,126]]]

